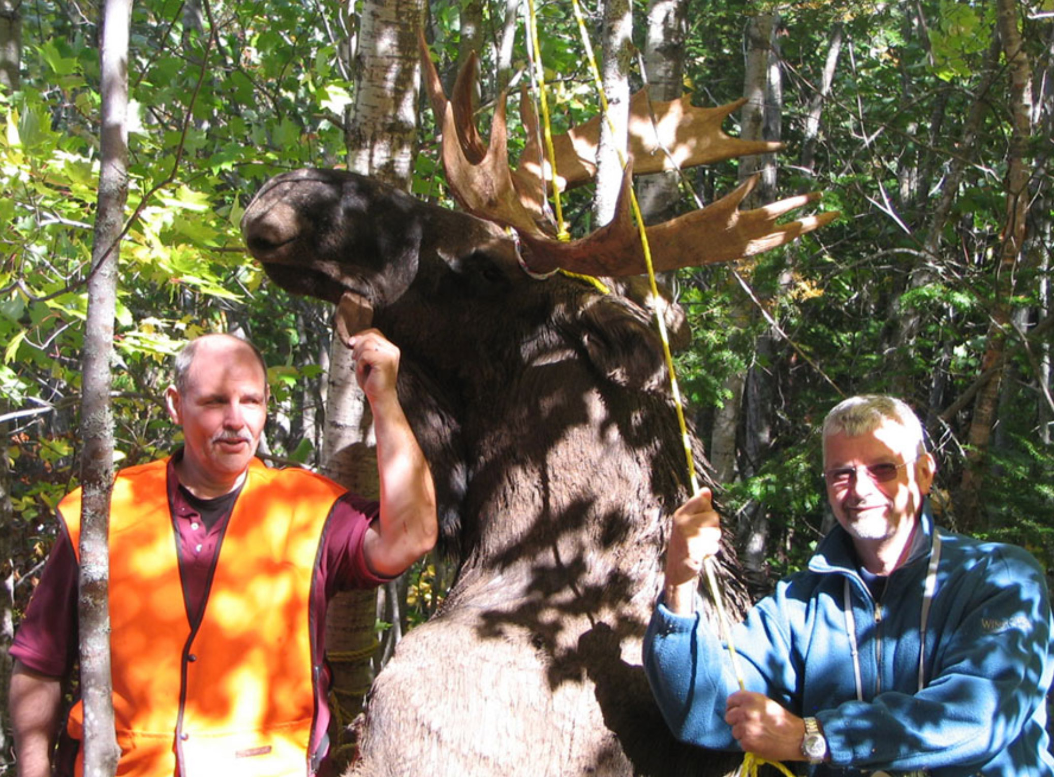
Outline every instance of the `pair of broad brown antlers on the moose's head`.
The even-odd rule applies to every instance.
[[[472,118],[476,58],[472,54],[462,65],[451,100],[447,100],[424,37],[418,36],[426,85],[432,109],[443,124],[442,157],[451,193],[469,213],[514,228],[526,251],[524,261],[532,273],[564,268],[585,275],[625,276],[646,272],[640,236],[632,222],[629,191],[632,173],[670,170],[674,162],[660,146],[670,150],[680,166],[705,164],[749,154],[778,151],[782,143],[745,141],[731,138],[721,123],[745,100],[717,108],[698,108],[688,98],[652,103],[656,120],[648,112],[646,94],[639,92],[630,102],[629,147],[631,163],[626,165],[616,215],[611,221],[581,240],[564,242],[552,235],[544,217],[548,164],[545,171],[535,161],[526,161],[516,171],[508,163],[505,103],[499,97],[491,121],[490,144],[484,143]],[[538,119],[528,100],[521,100],[521,116],[528,127]],[[559,178],[555,184],[567,188],[590,180],[596,174],[596,151],[600,117],[569,133],[553,138]],[[532,138],[536,133],[532,133]],[[536,141],[531,140],[524,159],[539,158]],[[636,166],[636,171],[633,171]],[[550,176],[551,177],[551,176]],[[752,256],[790,242],[835,219],[825,213],[787,224],[776,220],[819,198],[819,194],[780,200],[753,211],[739,211],[739,204],[756,185],[757,179],[743,182],[717,202],[646,230],[656,271],[675,270]]]

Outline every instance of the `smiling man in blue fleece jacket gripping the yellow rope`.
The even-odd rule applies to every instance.
[[[719,516],[703,491],[675,515],[644,665],[676,735],[807,761],[814,775],[1054,775],[1047,582],[1023,550],[934,525],[936,464],[911,409],[854,397],[823,424],[838,525],[733,643],[698,612]]]

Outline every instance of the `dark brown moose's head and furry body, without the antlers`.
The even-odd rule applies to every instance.
[[[379,673],[353,772],[728,772],[730,756],[674,740],[641,669],[686,495],[648,311],[625,287],[532,280],[492,224],[351,173],[279,176],[242,226],[280,286],[372,302],[462,560]]]

